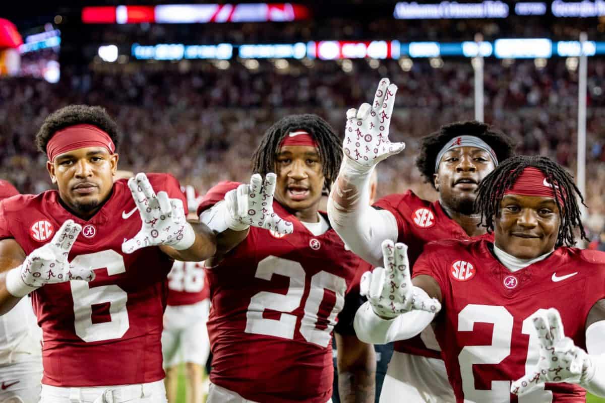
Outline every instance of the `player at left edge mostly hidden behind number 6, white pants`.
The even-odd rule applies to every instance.
[[[19,192],[0,179],[0,201]],[[0,316],[0,402],[37,403],[42,379],[42,347],[31,303],[23,298]],[[35,328],[34,328],[35,326]]]

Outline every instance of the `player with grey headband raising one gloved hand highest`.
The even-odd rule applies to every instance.
[[[413,263],[427,242],[468,239],[485,233],[473,212],[477,184],[508,158],[512,140],[477,121],[448,124],[422,139],[416,166],[439,192],[436,202],[408,191],[389,195],[370,207],[367,184],[380,161],[404,149],[391,143],[388,129],[397,87],[382,79],[372,105],[347,111],[341,170],[328,202],[335,231],[353,252],[374,266],[381,265],[384,239],[410,245]],[[371,310],[364,310],[369,312]],[[367,340],[386,343],[381,338]],[[453,391],[440,359],[431,327],[419,337],[394,343],[394,352],[382,386],[382,403],[450,403]]]

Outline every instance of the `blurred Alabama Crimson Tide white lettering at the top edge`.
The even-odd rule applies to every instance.
[[[502,1],[458,3],[442,1],[434,4],[399,2],[393,16],[396,19],[441,19],[441,18],[506,18],[508,4]]]

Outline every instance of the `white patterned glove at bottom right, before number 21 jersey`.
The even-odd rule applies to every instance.
[[[533,321],[540,340],[540,359],[522,378],[512,382],[511,393],[525,395],[545,382],[579,384],[586,379],[591,369],[590,358],[571,338],[565,337],[557,309],[538,312]]]

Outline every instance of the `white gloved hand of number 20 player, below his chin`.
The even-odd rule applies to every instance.
[[[265,228],[280,234],[291,234],[292,222],[286,221],[273,212],[273,194],[275,193],[275,173],[267,173],[263,178],[255,173],[250,184],[241,184],[237,189],[225,194],[229,211],[229,228],[243,230],[248,225]]]

